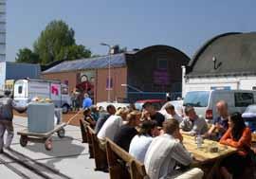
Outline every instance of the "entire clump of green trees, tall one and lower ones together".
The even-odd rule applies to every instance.
[[[35,41],[33,52],[28,48],[20,49],[16,62],[47,64],[60,60],[69,61],[90,57],[91,51],[84,45],[76,45],[74,36],[74,30],[68,27],[64,21],[52,21]]]

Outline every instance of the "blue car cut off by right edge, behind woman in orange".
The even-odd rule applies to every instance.
[[[249,105],[242,116],[251,132],[256,132],[256,104]]]

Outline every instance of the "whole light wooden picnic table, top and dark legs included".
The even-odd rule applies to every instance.
[[[223,158],[237,152],[237,149],[222,145],[219,142],[204,139],[202,147],[197,148],[195,137],[183,134],[183,145],[192,153],[194,161],[192,167],[198,167],[205,171],[205,178],[215,178]],[[210,152],[210,147],[217,147],[217,152]]]

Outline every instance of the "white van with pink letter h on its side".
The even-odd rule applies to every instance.
[[[67,113],[71,105],[68,87],[61,81],[37,79],[15,81],[13,98],[18,105],[27,104],[35,97],[50,98],[55,107],[63,108],[63,113]]]

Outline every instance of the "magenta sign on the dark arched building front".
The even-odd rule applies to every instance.
[[[155,70],[153,75],[155,84],[169,85],[170,75],[167,70]]]

